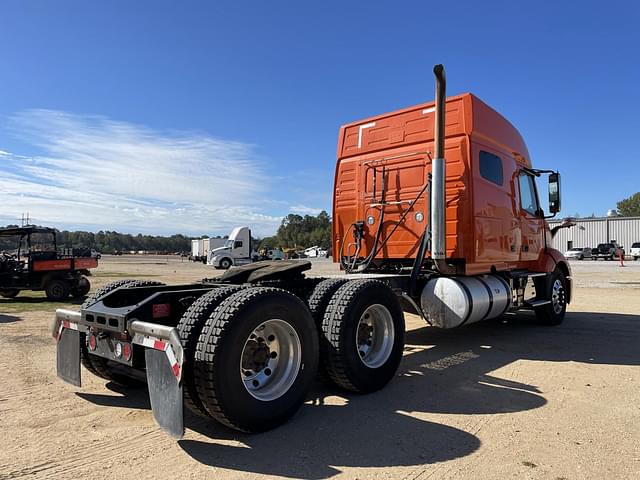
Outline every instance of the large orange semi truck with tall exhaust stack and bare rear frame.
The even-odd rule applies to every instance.
[[[457,328],[514,310],[557,325],[571,270],[551,248],[536,180],[518,131],[477,97],[343,126],[333,195],[337,278],[305,275],[306,261],[265,261],[189,285],[120,281],[80,312],[57,310],[58,375],[86,371],[147,382],[158,424],[184,432],[183,404],[248,432],[299,408],[321,363],[340,388],[372,392],[396,374],[404,312]],[[464,335],[464,329],[460,330]]]

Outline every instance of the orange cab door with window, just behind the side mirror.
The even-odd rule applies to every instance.
[[[544,246],[544,220],[538,200],[535,177],[526,170],[521,170],[518,174],[518,187],[520,191],[520,230],[522,232],[520,260],[535,261]]]

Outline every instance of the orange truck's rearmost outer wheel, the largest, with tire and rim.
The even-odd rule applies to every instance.
[[[230,428],[261,432],[286,422],[304,402],[317,371],[318,335],[295,295],[247,288],[209,317],[195,362],[207,412]]]

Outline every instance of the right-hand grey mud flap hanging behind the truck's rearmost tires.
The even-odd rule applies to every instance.
[[[146,349],[147,385],[153,418],[175,438],[184,435],[182,383],[176,378],[164,351]]]

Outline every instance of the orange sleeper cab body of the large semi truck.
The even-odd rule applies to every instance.
[[[562,254],[550,246],[536,182],[551,173],[550,189],[559,202],[559,174],[533,168],[519,132],[475,95],[446,98],[444,109],[447,262],[459,275],[546,271],[549,257]],[[413,263],[432,208],[425,192],[435,158],[434,116],[434,104],[422,104],[340,129],[333,250],[342,255],[335,261],[356,255],[351,226],[360,220],[366,241],[357,256],[371,253],[376,236],[388,237],[370,270]],[[396,224],[401,228],[391,233]]]

